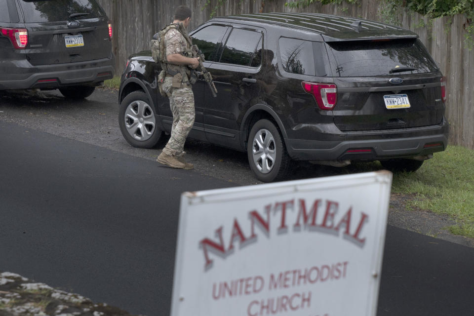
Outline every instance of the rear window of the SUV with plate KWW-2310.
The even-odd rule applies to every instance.
[[[26,23],[57,22],[105,16],[95,0],[21,0]],[[70,17],[74,13],[87,13]]]

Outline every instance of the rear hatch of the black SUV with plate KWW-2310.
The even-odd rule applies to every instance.
[[[110,58],[109,22],[95,0],[20,0],[32,65]],[[108,41],[108,45],[104,45]]]

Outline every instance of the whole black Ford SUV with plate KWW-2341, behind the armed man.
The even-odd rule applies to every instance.
[[[261,181],[284,178],[290,161],[343,166],[380,160],[415,171],[447,146],[446,82],[411,31],[313,13],[216,17],[190,32],[218,89],[193,86],[190,137],[246,151]],[[119,125],[133,146],[169,132],[168,99],[149,51],[121,77]]]

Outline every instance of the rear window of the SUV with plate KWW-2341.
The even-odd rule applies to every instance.
[[[329,42],[336,59],[336,77],[387,76],[395,67],[410,67],[414,74],[438,70],[418,39]]]

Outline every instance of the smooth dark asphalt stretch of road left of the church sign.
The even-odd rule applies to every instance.
[[[0,270],[168,315],[179,198],[232,184],[0,121]]]

